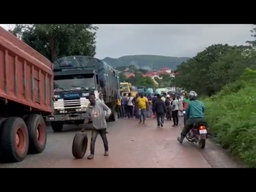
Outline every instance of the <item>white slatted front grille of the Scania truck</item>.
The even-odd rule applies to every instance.
[[[86,98],[80,98],[75,100],[63,100],[59,99],[54,102],[55,110],[68,110],[68,109],[81,109],[87,108],[90,101]]]

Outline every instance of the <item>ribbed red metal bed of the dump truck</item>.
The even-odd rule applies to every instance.
[[[52,63],[0,27],[0,100],[51,114],[53,94]]]

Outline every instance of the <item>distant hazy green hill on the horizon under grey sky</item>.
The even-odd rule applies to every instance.
[[[176,66],[182,62],[188,60],[189,57],[168,57],[158,55],[129,55],[122,56],[120,58],[106,57],[103,59],[104,62],[112,67],[130,66],[135,65],[138,68],[147,70],[158,70],[162,67],[176,70]]]

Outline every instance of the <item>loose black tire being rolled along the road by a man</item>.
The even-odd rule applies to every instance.
[[[75,135],[72,144],[72,154],[75,158],[81,159],[84,157],[88,145],[88,137],[85,132],[79,132]]]

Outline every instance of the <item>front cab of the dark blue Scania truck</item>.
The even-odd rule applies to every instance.
[[[100,84],[97,72],[88,66],[74,66],[72,61],[60,62],[54,68],[54,114],[48,117],[54,132],[62,131],[64,124],[82,124],[88,107],[89,94],[99,98]]]

